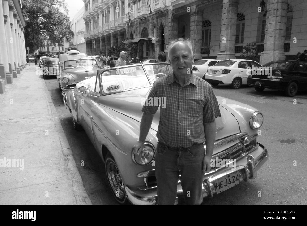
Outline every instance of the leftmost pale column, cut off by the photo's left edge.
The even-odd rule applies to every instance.
[[[4,17],[3,15],[3,6],[2,3],[0,3],[0,18],[4,18],[4,20],[0,20],[0,30],[5,31],[5,23],[7,16]],[[2,73],[0,74],[1,79],[5,80],[5,84],[7,83],[6,81],[6,76],[12,76],[12,74],[9,71],[9,56],[7,52],[7,40],[6,40],[6,35],[0,35],[0,64],[3,64],[4,70],[2,70]]]

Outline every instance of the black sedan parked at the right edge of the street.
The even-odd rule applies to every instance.
[[[298,90],[307,90],[307,62],[271,61],[261,68],[252,68],[247,84],[254,86],[258,92],[265,88],[277,89],[293,97]]]

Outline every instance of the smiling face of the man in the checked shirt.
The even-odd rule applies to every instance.
[[[173,73],[177,76],[189,76],[192,72],[194,59],[190,48],[185,42],[176,42],[169,51],[169,61]]]

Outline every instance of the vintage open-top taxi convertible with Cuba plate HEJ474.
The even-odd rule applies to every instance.
[[[121,204],[158,202],[154,158],[159,110],[142,153],[134,155],[132,148],[139,138],[142,105],[153,82],[165,76],[161,73],[165,67],[170,71],[169,64],[165,63],[101,69],[97,76],[79,82],[63,97],[74,128],[83,127],[105,163],[111,191]],[[249,105],[223,97],[217,99],[221,117],[216,118],[214,165],[204,174],[204,197],[256,178],[257,170],[268,158],[267,149],[257,142],[262,114]],[[182,201],[179,176],[176,203]]]

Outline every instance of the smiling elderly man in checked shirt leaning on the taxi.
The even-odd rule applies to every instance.
[[[157,132],[157,202],[174,204],[180,171],[185,204],[201,204],[202,182],[204,173],[211,169],[215,118],[220,117],[220,109],[212,86],[192,73],[194,59],[189,39],[178,38],[169,43],[169,60],[173,73],[155,81],[148,95],[166,101],[166,107],[160,108]],[[158,107],[142,108],[139,141],[133,147],[135,154],[144,147]]]

